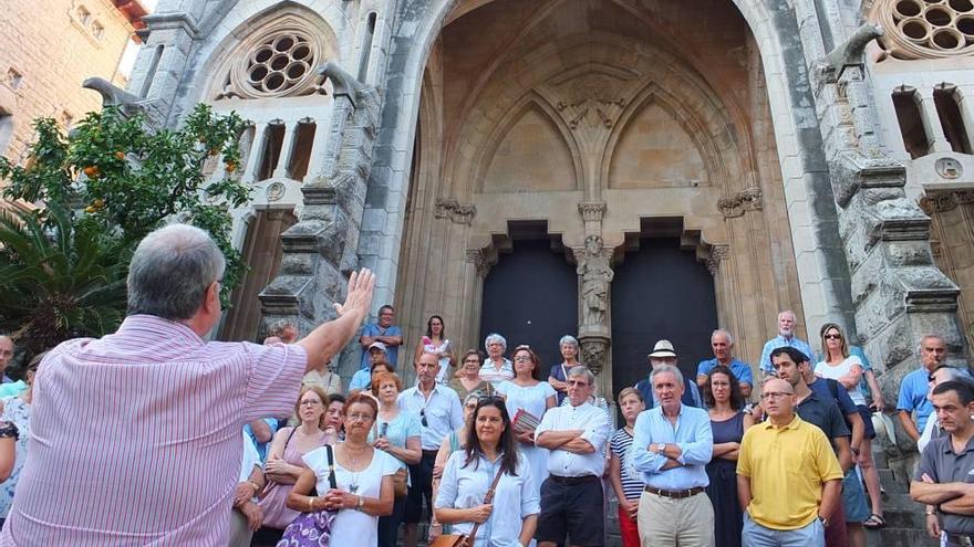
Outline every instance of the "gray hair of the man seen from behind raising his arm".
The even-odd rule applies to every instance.
[[[205,231],[188,224],[160,228],[138,243],[128,265],[128,314],[169,320],[193,317],[227,261]]]

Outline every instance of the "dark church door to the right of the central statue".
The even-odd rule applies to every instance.
[[[656,340],[673,343],[677,365],[696,378],[701,359],[713,357],[717,328],[714,278],[676,239],[642,239],[626,253],[612,281],[612,385],[614,393],[649,375],[646,355]],[[613,395],[614,395],[613,393]]]

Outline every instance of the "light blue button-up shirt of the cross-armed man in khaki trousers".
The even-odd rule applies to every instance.
[[[632,466],[647,486],[687,490],[709,484],[706,464],[714,455],[714,432],[706,410],[681,404],[675,425],[663,415],[662,407],[645,410],[635,419],[633,433]],[[680,446],[683,453],[676,460],[682,467],[660,471],[669,459],[647,446],[661,442]]]

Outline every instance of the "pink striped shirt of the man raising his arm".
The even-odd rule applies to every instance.
[[[34,380],[0,546],[222,546],[248,421],[293,411],[300,346],[206,343],[148,315],[69,340]]]

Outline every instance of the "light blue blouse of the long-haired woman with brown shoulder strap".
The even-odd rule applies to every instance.
[[[436,508],[467,509],[484,503],[487,488],[497,476],[500,466],[498,456],[494,462],[480,456],[465,465],[467,453],[464,450],[454,452],[443,470],[439,482],[439,494],[436,496]],[[490,517],[477,528],[475,547],[519,547],[524,519],[541,513],[541,499],[531,466],[524,454],[518,453],[517,475],[505,473],[497,483],[494,493],[494,511]],[[469,534],[474,523],[454,524],[455,534]]]

